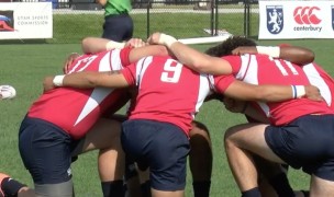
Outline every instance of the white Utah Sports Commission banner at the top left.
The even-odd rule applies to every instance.
[[[0,39],[52,37],[52,2],[0,2]]]

